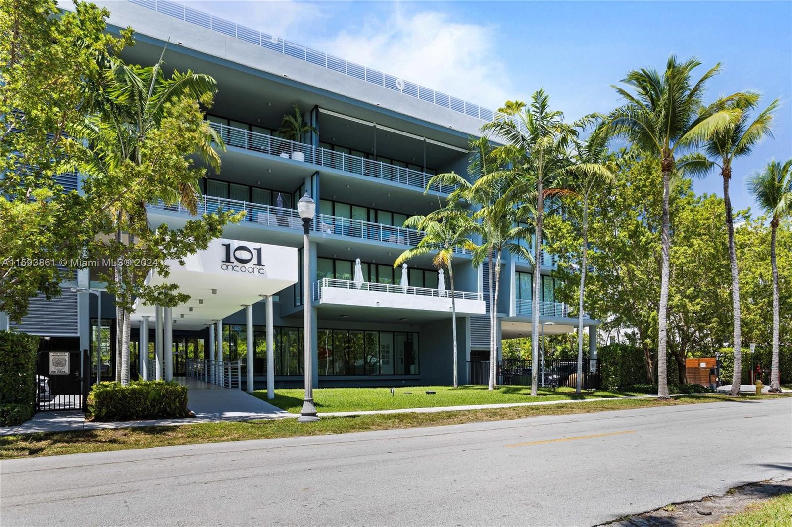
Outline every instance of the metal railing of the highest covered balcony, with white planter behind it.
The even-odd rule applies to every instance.
[[[230,127],[223,123],[211,123],[211,127],[219,133],[220,137],[223,138],[223,142],[227,145],[296,161],[305,161],[329,169],[357,174],[358,176],[392,181],[409,187],[421,188],[421,190],[426,188],[426,185],[433,177],[433,174],[418,170],[390,165],[383,163],[383,161],[364,159],[364,157],[327,150],[326,148],[317,148],[303,142],[290,141],[274,135],[245,130],[244,128]],[[449,194],[455,190],[455,187],[438,184],[432,186],[432,190]]]

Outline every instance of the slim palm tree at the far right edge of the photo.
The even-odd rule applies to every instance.
[[[781,391],[779,377],[779,268],[775,263],[775,235],[781,218],[792,214],[792,159],[783,165],[771,161],[762,173],[748,180],[748,191],[756,203],[770,214],[770,264],[773,268],[773,359],[770,370],[770,391]],[[735,366],[737,370],[737,366]]]

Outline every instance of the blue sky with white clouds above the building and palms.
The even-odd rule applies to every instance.
[[[700,74],[723,63],[708,97],[782,100],[775,139],[733,164],[733,207],[753,205],[746,176],[792,157],[792,2],[184,3],[490,108],[544,88],[569,120],[618,105],[610,85],[628,70],[695,55]]]

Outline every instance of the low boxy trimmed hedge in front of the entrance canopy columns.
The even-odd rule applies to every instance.
[[[135,419],[181,419],[190,417],[187,387],[175,382],[102,382],[88,394],[86,419],[132,421]]]

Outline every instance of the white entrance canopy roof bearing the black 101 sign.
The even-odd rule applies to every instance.
[[[213,320],[222,320],[254,304],[261,295],[272,295],[295,284],[298,280],[298,252],[296,248],[259,244],[249,241],[217,238],[204,251],[167,262],[169,276],[150,273],[150,286],[175,283],[190,299],[173,307],[173,322],[177,329],[200,329]],[[151,317],[155,306],[135,303],[132,320]]]

